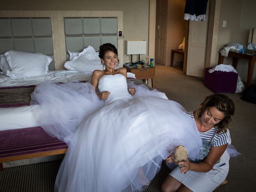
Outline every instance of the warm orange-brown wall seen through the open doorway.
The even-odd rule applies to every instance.
[[[186,0],[169,0],[166,33],[166,66],[170,66],[171,50],[177,49],[185,36],[184,9]],[[182,56],[174,54],[173,66],[182,64]]]

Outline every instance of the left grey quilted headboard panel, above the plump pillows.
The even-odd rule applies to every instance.
[[[0,54],[9,50],[42,53],[53,58],[51,18],[0,18]]]

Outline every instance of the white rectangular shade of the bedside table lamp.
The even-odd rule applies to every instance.
[[[125,53],[127,55],[146,54],[146,41],[125,40]]]

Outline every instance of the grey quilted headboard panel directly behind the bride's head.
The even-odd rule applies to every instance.
[[[117,47],[117,18],[64,18],[66,54],[81,52],[89,45],[96,51],[99,46],[110,42]]]

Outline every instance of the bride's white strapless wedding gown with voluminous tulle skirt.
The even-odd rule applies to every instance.
[[[161,92],[130,86],[135,96],[122,74],[103,76],[98,88],[110,92],[105,102],[86,83],[36,87],[31,103],[36,119],[68,144],[56,191],[143,190],[176,146],[199,158],[202,141],[184,108]]]

